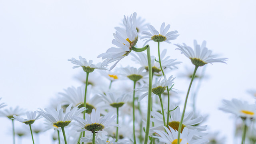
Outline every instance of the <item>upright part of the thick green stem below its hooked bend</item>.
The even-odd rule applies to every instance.
[[[150,55],[150,47],[147,45],[147,57],[148,57],[148,112],[147,112],[147,123],[146,123],[146,133],[145,133],[145,140],[144,144],[148,144],[148,134],[149,134],[149,127],[150,127],[150,108],[151,104],[151,94],[152,94],[152,66],[151,66],[151,55]]]

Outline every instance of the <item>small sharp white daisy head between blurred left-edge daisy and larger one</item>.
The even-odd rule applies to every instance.
[[[34,111],[34,112],[26,112],[26,114],[27,114],[27,118],[28,119],[24,119],[24,118],[22,118],[20,116],[16,116],[16,115],[13,115],[13,117],[14,117],[13,119],[14,120],[18,120],[19,122],[22,122],[24,124],[33,124],[35,122],[35,120],[37,120],[41,116],[41,114],[38,114],[36,116],[36,111]]]

